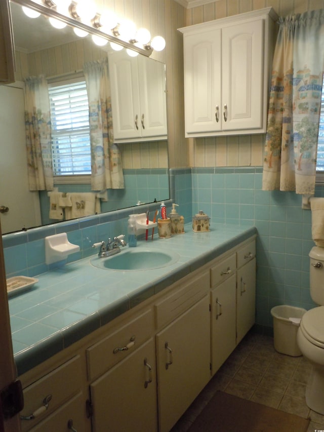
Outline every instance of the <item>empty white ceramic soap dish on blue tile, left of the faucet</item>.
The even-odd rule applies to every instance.
[[[54,262],[66,259],[68,255],[78,252],[80,247],[67,240],[66,232],[45,237],[45,262]]]

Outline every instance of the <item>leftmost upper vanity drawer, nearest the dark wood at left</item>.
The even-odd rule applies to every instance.
[[[23,389],[24,408],[21,416],[29,416],[35,413],[44,404],[44,399],[51,395],[48,409],[32,420],[22,420],[22,431],[29,430],[39,421],[43,420],[58,407],[75,395],[82,387],[82,368],[80,356],[76,356],[41,379]]]

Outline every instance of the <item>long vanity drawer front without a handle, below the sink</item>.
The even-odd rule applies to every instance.
[[[189,307],[195,304],[201,297],[208,293],[210,288],[209,271],[200,273],[190,282],[184,283],[181,288],[155,304],[155,318],[157,328],[179,317]]]

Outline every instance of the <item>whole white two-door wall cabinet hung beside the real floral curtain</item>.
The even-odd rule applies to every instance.
[[[266,132],[276,17],[266,8],[179,29],[186,137]]]

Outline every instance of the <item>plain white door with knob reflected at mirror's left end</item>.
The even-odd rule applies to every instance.
[[[0,86],[0,209],[9,209],[0,213],[3,233],[41,225],[38,192],[28,189],[24,95],[18,86]]]

